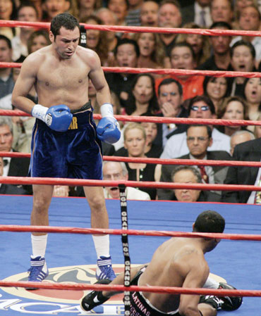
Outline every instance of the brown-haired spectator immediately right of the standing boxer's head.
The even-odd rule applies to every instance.
[[[97,18],[96,15],[83,17],[80,22],[92,25],[102,25],[102,20]],[[101,32],[99,30],[87,29],[86,47],[88,49],[92,49],[98,54],[102,66],[107,67],[109,65],[107,38],[104,32]]]

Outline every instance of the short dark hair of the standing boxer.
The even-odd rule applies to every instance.
[[[60,34],[61,27],[71,31],[78,27],[80,32],[78,20],[70,13],[60,13],[51,20],[51,32],[54,34],[54,39]]]

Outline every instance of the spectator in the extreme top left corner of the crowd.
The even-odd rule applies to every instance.
[[[5,0],[0,2],[0,20],[16,20],[16,0]],[[0,27],[0,34],[12,39],[20,32],[19,27]]]

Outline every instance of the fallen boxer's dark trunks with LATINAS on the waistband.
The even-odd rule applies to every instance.
[[[145,271],[145,267],[142,267],[140,271],[135,275],[130,285],[138,285],[140,275]],[[180,316],[178,310],[174,312],[161,312],[154,308],[150,301],[142,295],[142,292],[130,293],[130,316]]]

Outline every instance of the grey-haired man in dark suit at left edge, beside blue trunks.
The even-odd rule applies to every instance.
[[[13,125],[11,118],[0,117],[0,151],[12,151]],[[30,158],[9,158],[2,162],[3,170],[1,176],[27,177]],[[32,194],[31,186],[19,184],[1,184],[0,194]]]

